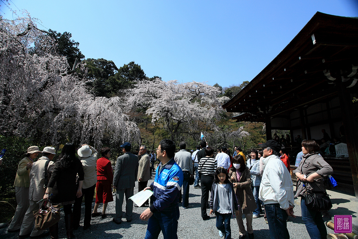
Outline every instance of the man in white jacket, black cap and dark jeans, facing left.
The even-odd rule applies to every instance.
[[[280,160],[281,146],[275,140],[258,144],[263,148],[263,170],[259,198],[265,205],[271,239],[289,239],[287,217],[293,214],[294,194],[290,173]]]

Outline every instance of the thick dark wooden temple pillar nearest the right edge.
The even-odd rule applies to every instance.
[[[339,82],[339,103],[342,114],[343,127],[347,140],[350,168],[352,170],[355,197],[358,199],[358,124],[354,120],[353,102],[349,88]]]

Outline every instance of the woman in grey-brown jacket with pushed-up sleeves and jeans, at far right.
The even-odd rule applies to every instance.
[[[322,214],[308,209],[305,204],[306,189],[325,193],[323,177],[333,173],[332,167],[319,155],[319,145],[314,140],[302,141],[303,157],[300,165],[293,171],[297,177],[295,197],[301,197],[302,220],[310,238],[326,238],[327,230]],[[305,186],[304,186],[305,185]],[[319,194],[319,193],[318,193]]]

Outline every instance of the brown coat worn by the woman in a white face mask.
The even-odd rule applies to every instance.
[[[243,214],[248,214],[255,211],[257,208],[255,198],[251,191],[251,174],[250,169],[246,167],[245,171],[241,173],[241,177],[238,180],[236,175],[236,169],[230,168],[229,181],[232,183],[238,182],[238,187],[234,188],[237,202],[239,203],[239,210],[242,209]]]

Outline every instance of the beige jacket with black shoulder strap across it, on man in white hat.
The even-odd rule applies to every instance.
[[[44,197],[45,185],[45,164],[47,157],[41,157],[38,161],[32,164],[30,171],[30,188],[29,199],[33,201],[40,201]],[[47,167],[47,180],[50,179],[55,163],[50,161]]]

